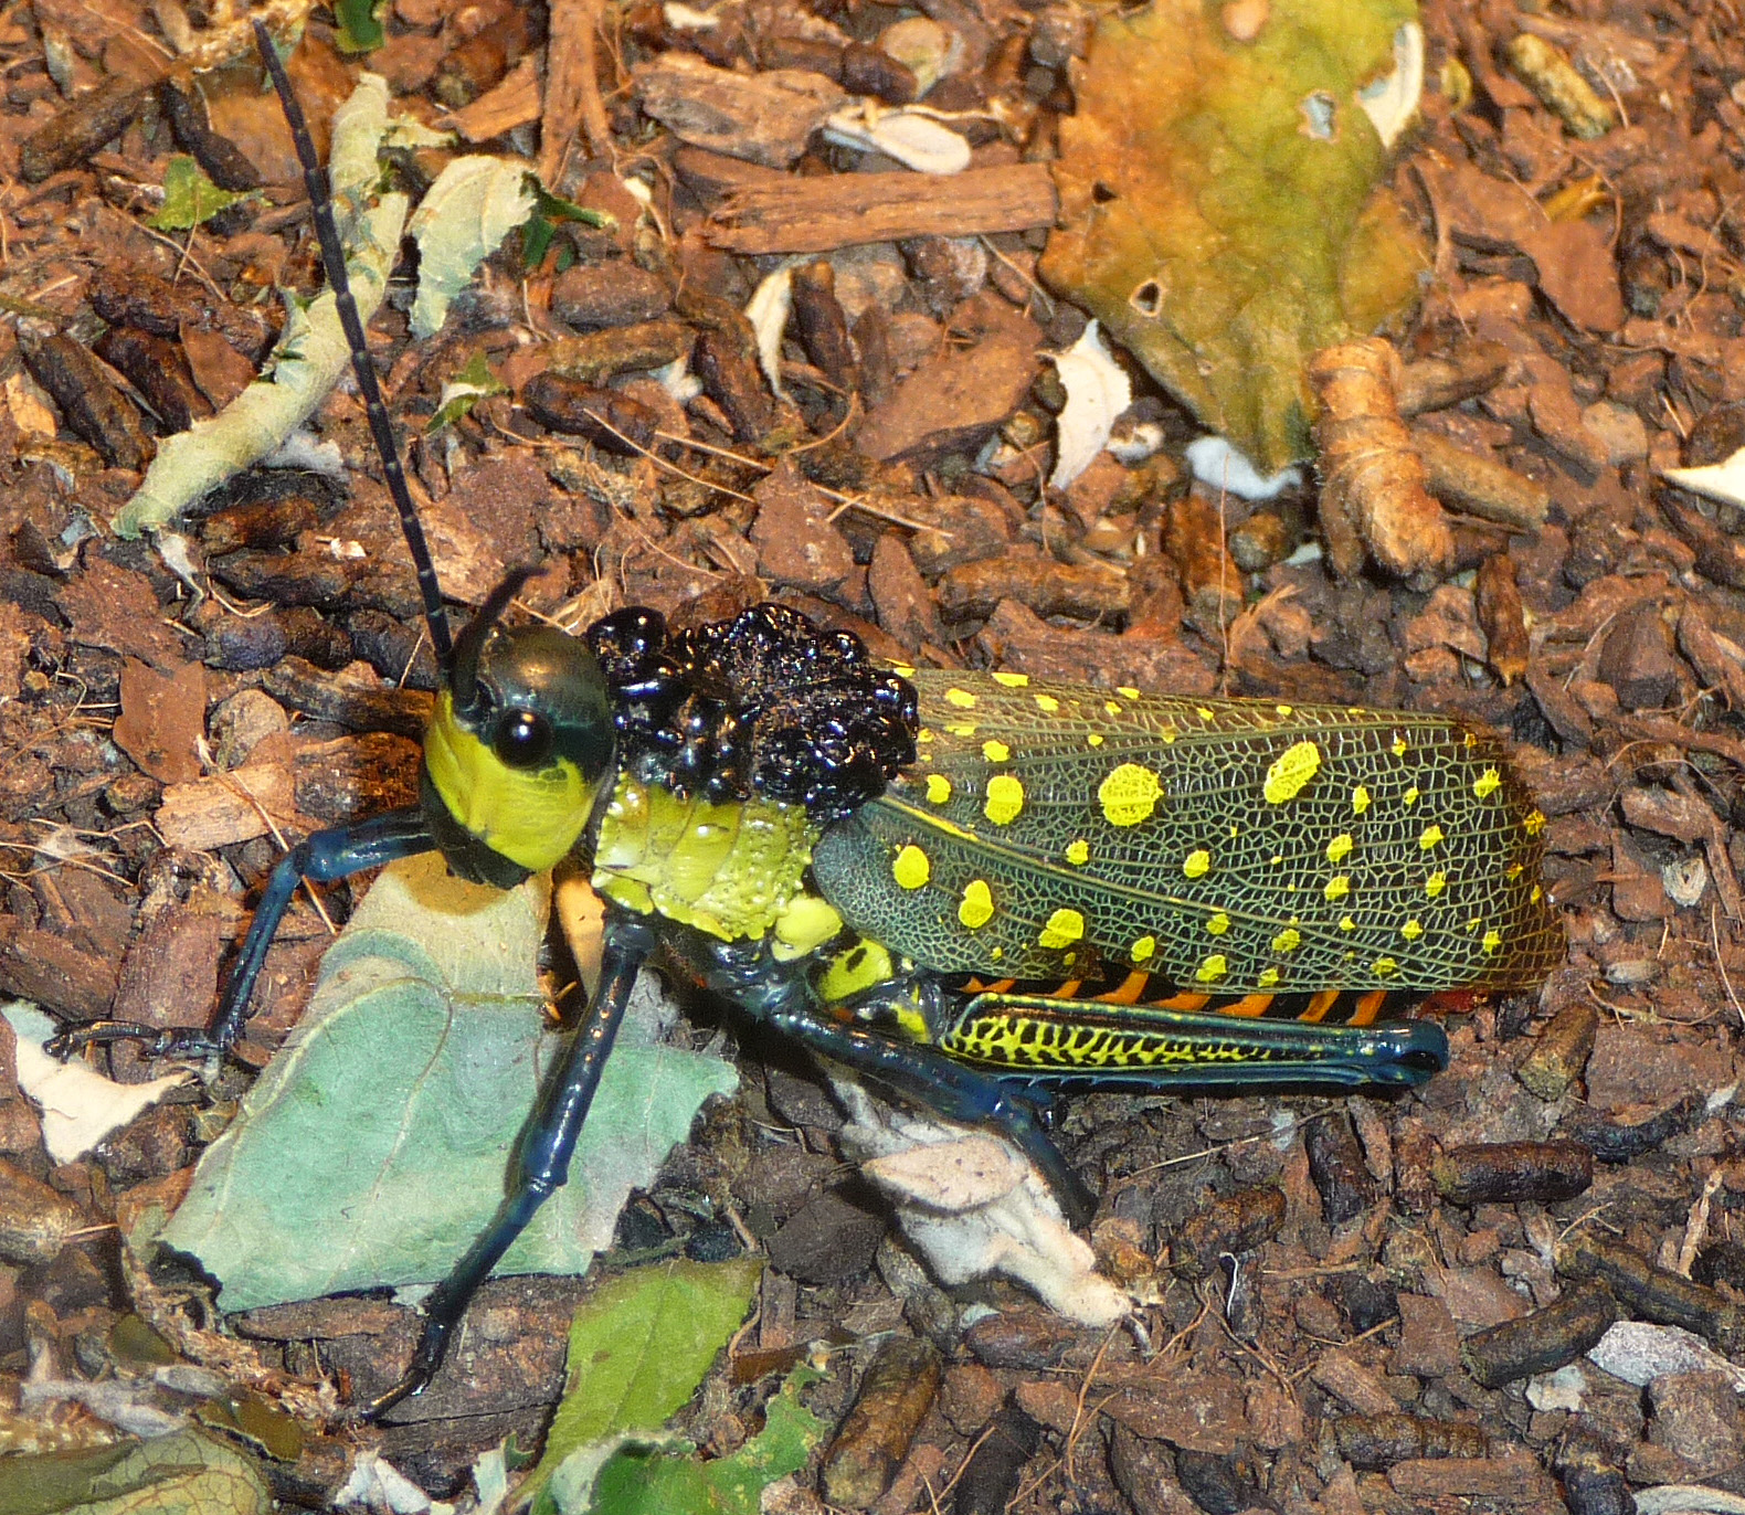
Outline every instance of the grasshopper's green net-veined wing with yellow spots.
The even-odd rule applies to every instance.
[[[1501,990],[1562,932],[1544,817],[1438,716],[918,672],[921,740],[813,874],[934,972],[1185,990]]]

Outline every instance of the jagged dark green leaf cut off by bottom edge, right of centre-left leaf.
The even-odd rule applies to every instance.
[[[700,1461],[670,1452],[616,1452],[593,1482],[586,1505],[564,1515],[757,1515],[763,1491],[806,1466],[829,1429],[799,1403],[799,1375],[764,1410],[764,1428],[728,1457]]]

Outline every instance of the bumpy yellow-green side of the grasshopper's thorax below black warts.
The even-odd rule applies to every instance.
[[[770,936],[778,958],[797,958],[843,925],[806,890],[818,834],[803,805],[717,805],[623,775],[600,819],[593,887],[625,909],[722,941]]]

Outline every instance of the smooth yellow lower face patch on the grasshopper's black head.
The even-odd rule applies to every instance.
[[[510,768],[461,724],[448,689],[424,728],[424,768],[459,826],[530,873],[569,855],[600,789],[567,758]]]

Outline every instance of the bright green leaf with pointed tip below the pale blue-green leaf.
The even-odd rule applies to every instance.
[[[750,1309],[757,1258],[639,1267],[597,1288],[569,1332],[564,1400],[522,1498],[572,1454],[649,1435],[684,1407]]]

